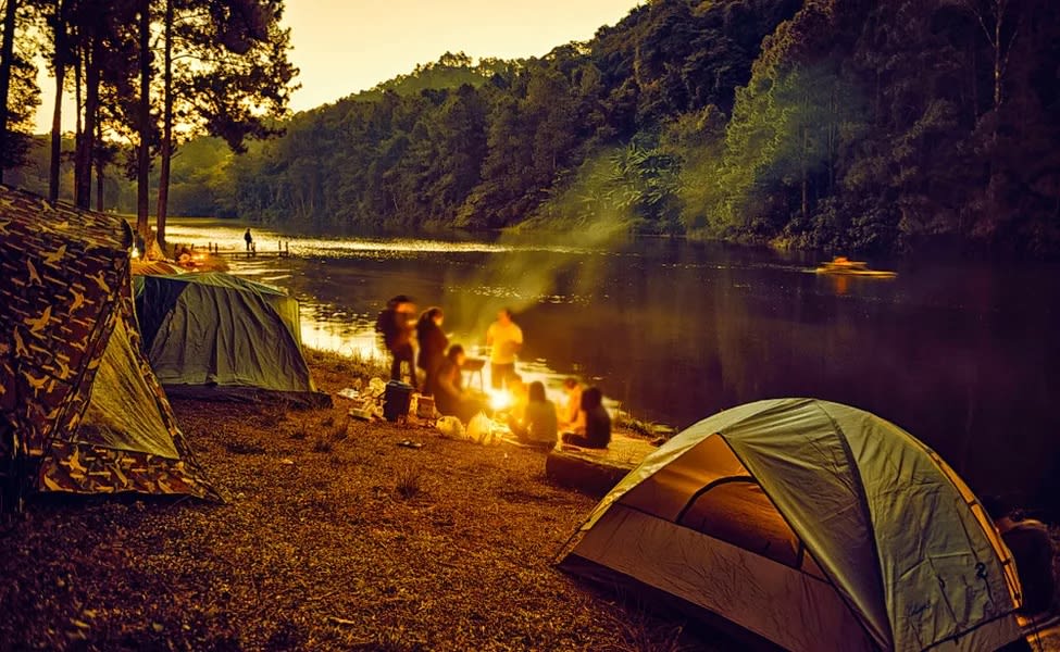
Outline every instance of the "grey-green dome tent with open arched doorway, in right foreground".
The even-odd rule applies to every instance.
[[[1014,563],[968,486],[894,424],[813,399],[684,430],[597,505],[559,564],[789,650],[1020,638]]]

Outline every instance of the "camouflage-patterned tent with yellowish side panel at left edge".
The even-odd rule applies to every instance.
[[[0,186],[0,481],[215,497],[133,321],[121,218]]]

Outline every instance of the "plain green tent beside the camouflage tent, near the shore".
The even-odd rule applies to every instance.
[[[302,356],[298,301],[221,273],[136,276],[144,352],[171,396],[331,402]]]

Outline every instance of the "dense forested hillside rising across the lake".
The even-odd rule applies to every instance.
[[[446,53],[269,128],[178,143],[170,211],[1060,253],[1053,0],[654,0],[541,58]]]

